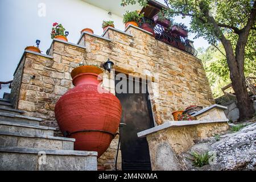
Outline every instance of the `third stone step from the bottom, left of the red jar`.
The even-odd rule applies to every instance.
[[[0,131],[27,133],[31,135],[53,136],[56,129],[53,127],[15,123],[10,121],[0,121]]]

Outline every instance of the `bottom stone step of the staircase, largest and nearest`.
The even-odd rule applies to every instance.
[[[0,147],[1,171],[97,171],[97,152]]]

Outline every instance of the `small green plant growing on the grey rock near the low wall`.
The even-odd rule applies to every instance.
[[[203,167],[209,164],[209,159],[212,157],[212,155],[210,155],[209,152],[200,154],[199,152],[192,151],[190,155],[192,155],[193,158],[192,159],[188,158],[188,159],[192,160],[193,166],[196,166],[196,167]]]

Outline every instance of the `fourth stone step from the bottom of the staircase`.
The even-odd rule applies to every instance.
[[[0,113],[0,121],[11,121],[17,123],[26,123],[32,125],[39,125],[43,119],[29,117],[26,115],[18,115],[18,114],[9,114],[9,113]]]

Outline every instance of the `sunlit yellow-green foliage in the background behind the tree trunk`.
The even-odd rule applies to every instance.
[[[245,77],[256,76],[256,38],[253,36],[255,34],[256,31],[251,32],[246,46],[244,67]],[[237,37],[231,37],[230,39],[237,39]],[[234,43],[236,43],[236,40],[233,40],[232,43],[235,47]],[[226,57],[222,54],[225,53],[225,49],[221,43],[216,47],[210,46],[207,49],[201,47],[198,49],[199,54],[197,56],[204,64],[214,98],[222,96],[223,92],[221,88],[231,82]]]

